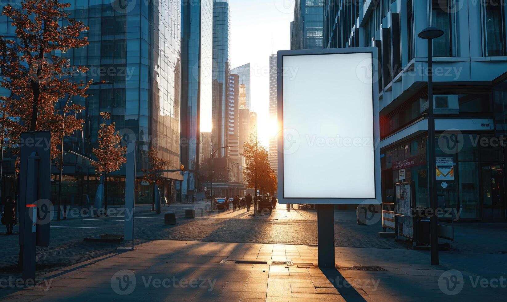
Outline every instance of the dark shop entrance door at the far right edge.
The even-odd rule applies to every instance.
[[[505,176],[503,164],[482,167],[483,218],[485,221],[505,220]]]

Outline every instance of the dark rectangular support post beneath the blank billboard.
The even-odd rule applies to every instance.
[[[335,267],[335,211],[334,205],[317,205],[318,267]]]

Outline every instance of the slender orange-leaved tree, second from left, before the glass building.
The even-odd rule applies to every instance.
[[[125,154],[127,147],[121,145],[122,136],[116,131],[115,123],[108,123],[111,114],[101,112],[102,124],[98,130],[97,141],[98,148],[93,148],[92,152],[97,157],[96,162],[92,162],[95,170],[102,174],[101,182],[104,185],[104,210],[107,210],[107,173],[118,171],[122,164],[127,162]]]

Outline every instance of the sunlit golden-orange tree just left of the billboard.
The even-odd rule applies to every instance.
[[[253,201],[253,214],[257,215],[258,199],[257,190],[271,193],[276,192],[276,175],[268,159],[268,150],[259,141],[257,131],[251,133],[248,141],[243,144],[242,156],[245,158],[246,166],[244,178],[249,188],[253,187],[255,195]]]

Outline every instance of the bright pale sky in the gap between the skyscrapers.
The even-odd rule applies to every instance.
[[[270,135],[276,134],[268,115],[269,56],[278,50],[291,49],[289,32],[294,0],[229,0],[229,5],[231,68],[250,63],[250,107],[258,114],[258,133],[268,146]]]

